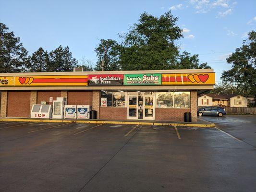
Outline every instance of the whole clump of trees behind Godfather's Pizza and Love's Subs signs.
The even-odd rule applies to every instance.
[[[207,63],[199,64],[198,55],[179,52],[176,41],[183,35],[182,29],[176,25],[177,20],[171,11],[160,17],[142,13],[138,23],[120,35],[122,43],[101,39],[96,48],[96,70],[101,71],[103,58],[104,70],[107,71],[210,68]]]

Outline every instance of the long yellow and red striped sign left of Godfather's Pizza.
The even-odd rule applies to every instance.
[[[87,86],[87,75],[2,76],[0,86]]]

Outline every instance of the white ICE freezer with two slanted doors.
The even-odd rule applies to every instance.
[[[30,113],[31,118],[36,119],[51,119],[51,105],[33,105]]]

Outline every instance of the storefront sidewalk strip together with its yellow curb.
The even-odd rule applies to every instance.
[[[26,118],[4,118],[0,121],[23,121],[23,122],[74,122],[74,123],[104,123],[104,124],[139,124],[139,125],[159,125],[159,126],[189,126],[189,127],[214,127],[215,124],[206,120],[197,119],[197,122],[180,122],[167,120],[45,120]]]

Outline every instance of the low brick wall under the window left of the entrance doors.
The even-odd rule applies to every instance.
[[[126,108],[100,107],[99,119],[102,120],[126,120]],[[98,115],[98,114],[97,114]]]

